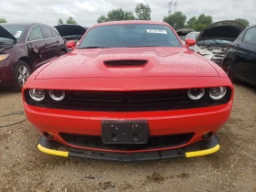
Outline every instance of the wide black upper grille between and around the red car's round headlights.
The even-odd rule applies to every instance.
[[[155,112],[217,106],[229,102],[231,90],[221,101],[209,98],[209,89],[200,101],[190,101],[187,90],[172,91],[65,91],[64,101],[52,101],[46,91],[42,102],[35,102],[25,91],[27,104],[42,108],[87,112]]]

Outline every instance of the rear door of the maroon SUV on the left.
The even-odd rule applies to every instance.
[[[49,59],[54,59],[59,56],[59,41],[53,37],[51,30],[48,26],[40,26],[43,32],[43,36],[46,39],[46,43],[48,45],[48,54]]]

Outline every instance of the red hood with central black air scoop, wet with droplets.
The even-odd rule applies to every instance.
[[[96,48],[77,49],[55,59],[40,70],[36,79],[163,76],[217,77],[219,73],[187,48]]]

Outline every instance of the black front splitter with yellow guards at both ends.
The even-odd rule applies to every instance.
[[[191,144],[181,148],[127,154],[78,149],[64,144],[59,144],[55,141],[49,141],[44,136],[41,136],[37,145],[38,150],[49,155],[82,157],[120,162],[160,160],[178,157],[188,158],[201,155],[210,155],[219,151],[219,147],[219,139],[215,134],[206,141],[200,141],[196,144]]]

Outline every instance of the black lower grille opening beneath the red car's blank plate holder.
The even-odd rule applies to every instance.
[[[175,147],[187,142],[193,137],[194,133],[172,134],[165,136],[152,136],[147,144],[103,144],[101,136],[59,133],[68,144],[88,148],[101,148],[109,150],[147,150],[155,148]]]

